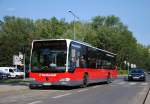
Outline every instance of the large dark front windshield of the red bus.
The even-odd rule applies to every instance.
[[[65,72],[67,44],[65,40],[35,41],[32,48],[32,72]]]

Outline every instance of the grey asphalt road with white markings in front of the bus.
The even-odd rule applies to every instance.
[[[0,93],[0,104],[143,104],[150,87],[146,82],[116,79],[110,84],[93,84],[87,88],[23,89]]]

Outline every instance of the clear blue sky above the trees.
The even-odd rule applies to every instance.
[[[98,15],[115,15],[138,43],[150,45],[150,0],[0,0],[0,20],[7,15],[73,21],[69,10],[87,22]]]

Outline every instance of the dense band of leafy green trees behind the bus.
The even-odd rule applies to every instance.
[[[34,39],[73,39],[74,22],[50,19],[33,21],[28,18],[5,16],[0,20],[0,65],[12,65],[12,57],[26,47],[27,60]],[[120,19],[112,16],[95,16],[90,22],[75,22],[76,40],[117,54],[117,64],[124,61],[150,70],[150,45],[137,43],[133,33]]]

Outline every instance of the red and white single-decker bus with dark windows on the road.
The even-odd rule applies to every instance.
[[[86,87],[117,78],[116,54],[70,39],[34,40],[30,88],[63,85]]]

